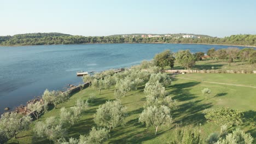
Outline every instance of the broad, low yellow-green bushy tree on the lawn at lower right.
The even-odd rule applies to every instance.
[[[239,125],[242,123],[241,113],[230,108],[219,107],[217,109],[205,110],[207,122],[213,122],[216,125]]]

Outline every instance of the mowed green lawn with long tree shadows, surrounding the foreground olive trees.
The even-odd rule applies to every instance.
[[[189,78],[195,80],[179,79]],[[158,135],[154,135],[154,128],[146,128],[145,125],[138,122],[139,114],[143,111],[145,103],[145,95],[143,88],[137,91],[129,92],[127,97],[121,98],[121,103],[127,107],[129,116],[126,118],[127,123],[124,127],[113,129],[110,138],[106,143],[167,143],[172,139],[175,125],[197,125],[201,124],[202,136],[204,139],[214,131],[219,131],[219,127],[212,123],[207,123],[203,115],[203,110],[208,108],[216,108],[220,106],[230,107],[243,112],[245,115],[245,123],[242,129],[256,137],[256,88],[238,87],[229,85],[219,85],[213,83],[202,82],[212,81],[221,83],[230,83],[237,85],[256,85],[256,74],[185,74],[177,75],[173,78],[172,85],[166,90],[171,97],[178,101],[178,106],[172,111],[173,124],[170,127],[160,127]],[[205,100],[201,90],[210,88],[212,93]],[[57,106],[57,109],[51,110],[40,117],[39,121],[44,121],[50,116],[59,116],[61,107],[71,107],[75,104],[75,100],[86,100],[90,93],[96,93],[97,99],[91,104],[80,121],[68,129],[69,137],[79,137],[81,134],[88,134],[92,126],[96,126],[93,118],[98,105],[104,104],[106,100],[114,100],[114,89],[103,90],[101,95],[92,88],[86,88],[72,95],[71,99],[65,104]],[[9,143],[49,143],[47,140],[37,139],[33,131],[25,131],[18,135],[17,140],[10,140]],[[254,143],[256,141],[254,140]]]

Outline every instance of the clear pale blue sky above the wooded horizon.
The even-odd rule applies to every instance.
[[[256,1],[0,0],[0,35],[256,34]]]

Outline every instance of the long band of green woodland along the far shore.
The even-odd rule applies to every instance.
[[[62,33],[30,33],[17,34],[13,36],[0,37],[0,45],[54,45],[54,44],[96,44],[96,43],[173,43],[173,44],[227,44],[227,45],[251,45],[256,46],[256,35],[231,35],[230,37],[127,37],[107,36],[107,37],[84,37],[80,35],[68,35]]]

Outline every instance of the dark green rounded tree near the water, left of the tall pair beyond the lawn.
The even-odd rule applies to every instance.
[[[157,53],[154,57],[154,63],[156,66],[164,69],[166,66],[173,68],[174,66],[174,56],[170,50],[165,50],[164,52]]]

